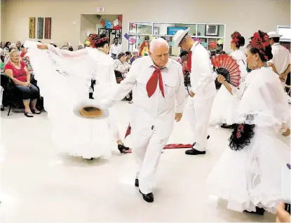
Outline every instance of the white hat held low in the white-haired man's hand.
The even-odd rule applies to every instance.
[[[73,112],[83,119],[106,119],[109,116],[108,108],[95,99],[79,102],[74,107]]]

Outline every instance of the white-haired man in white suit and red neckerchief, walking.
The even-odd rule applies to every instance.
[[[137,163],[135,186],[147,202],[154,201],[152,189],[161,151],[172,133],[174,119],[182,118],[186,96],[182,67],[168,58],[168,50],[164,39],[151,41],[149,56],[134,62],[126,79],[104,100],[110,105],[133,90],[135,102],[127,133],[131,133]]]

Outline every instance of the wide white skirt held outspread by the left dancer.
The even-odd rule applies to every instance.
[[[64,66],[67,74],[57,72],[51,55],[52,53],[46,51],[29,50],[35,78],[44,98],[43,105],[48,112],[53,144],[58,151],[66,151],[72,156],[109,158],[114,142],[108,118],[83,119],[73,112],[76,104],[88,100],[90,79],[86,77],[86,70],[82,71],[81,65],[74,64],[72,60],[72,67]],[[63,65],[62,58],[58,59],[57,62]],[[77,73],[84,77],[76,75]]]

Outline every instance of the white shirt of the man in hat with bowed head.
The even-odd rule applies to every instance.
[[[215,81],[212,78],[212,65],[208,51],[198,42],[191,48],[191,90],[194,97],[208,99],[215,96]]]

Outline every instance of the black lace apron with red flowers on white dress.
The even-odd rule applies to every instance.
[[[231,137],[229,137],[229,147],[234,151],[238,151],[248,146],[255,135],[254,128],[255,125],[236,124]]]

